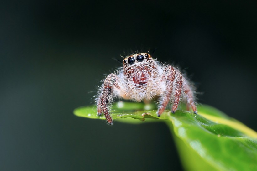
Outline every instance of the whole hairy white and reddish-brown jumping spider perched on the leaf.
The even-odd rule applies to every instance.
[[[186,99],[187,110],[191,106],[197,114],[192,87],[181,72],[171,65],[156,62],[147,53],[126,57],[123,60],[123,70],[104,79],[96,99],[97,113],[99,116],[103,113],[110,125],[113,124],[113,119],[109,108],[114,97],[137,102],[158,97],[158,117],[169,102],[173,104],[171,112],[175,113],[181,99]]]

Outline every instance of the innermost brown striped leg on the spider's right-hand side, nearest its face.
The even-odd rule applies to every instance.
[[[168,72],[167,72],[167,70]],[[170,101],[170,97],[172,94],[172,89],[173,89],[173,81],[175,80],[175,74],[176,71],[172,66],[168,66],[163,72],[164,74],[167,73],[167,78],[166,78],[166,86],[165,86],[165,90],[163,93],[163,99],[161,101],[161,105],[159,106],[158,110],[157,110],[157,116],[160,117],[160,115],[162,114],[162,112],[165,110],[167,104]],[[165,75],[161,75],[161,80],[163,80],[165,78]]]

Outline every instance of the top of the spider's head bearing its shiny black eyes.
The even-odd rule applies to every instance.
[[[143,69],[151,67],[155,60],[147,53],[133,54],[123,60],[123,69]]]

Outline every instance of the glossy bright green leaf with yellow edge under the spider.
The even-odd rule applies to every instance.
[[[118,102],[112,112],[120,122],[166,122],[186,170],[257,170],[257,133],[211,106],[198,106],[198,115],[167,110],[157,117],[153,104]],[[74,114],[105,119],[95,106],[77,108]]]

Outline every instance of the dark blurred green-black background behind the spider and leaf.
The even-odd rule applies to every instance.
[[[256,1],[1,1],[1,170],[181,170],[164,123],[72,113],[135,49],[156,49],[199,103],[257,130],[256,17]]]

